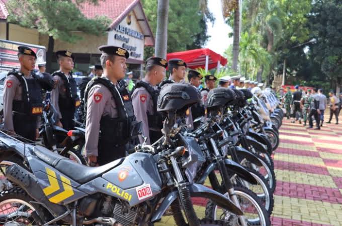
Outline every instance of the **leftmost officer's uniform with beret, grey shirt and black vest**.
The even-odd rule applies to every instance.
[[[19,46],[20,54],[37,56],[33,50]],[[4,88],[4,129],[15,131],[26,139],[36,140],[43,112],[42,83],[33,72],[25,76],[17,70],[8,73]]]

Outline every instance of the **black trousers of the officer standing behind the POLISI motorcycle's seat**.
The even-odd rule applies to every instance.
[[[99,165],[105,165],[126,156],[125,145],[117,145],[112,140],[108,141],[101,139],[101,137],[99,139],[98,151]]]

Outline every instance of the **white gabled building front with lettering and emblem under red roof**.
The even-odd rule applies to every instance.
[[[143,60],[144,35],[141,33],[141,29],[132,12],[116,28],[108,33],[108,45],[125,48],[129,52],[129,58]]]

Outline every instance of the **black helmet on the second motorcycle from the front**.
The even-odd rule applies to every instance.
[[[223,107],[224,105],[231,103],[236,98],[235,92],[229,88],[219,87],[210,90],[207,98],[207,109]]]

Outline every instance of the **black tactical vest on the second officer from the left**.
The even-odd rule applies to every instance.
[[[63,72],[56,71],[52,76],[58,75],[65,86],[65,96],[59,94],[58,105],[61,110],[75,110],[80,105],[80,100],[77,95],[77,84],[72,75],[68,78]]]

